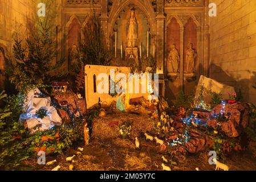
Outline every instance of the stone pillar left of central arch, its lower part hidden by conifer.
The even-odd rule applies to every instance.
[[[100,15],[100,26],[104,32],[105,43],[107,43],[107,30],[108,30],[108,1],[101,0],[101,15]]]

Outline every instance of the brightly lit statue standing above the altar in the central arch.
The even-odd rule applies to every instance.
[[[127,47],[135,47],[137,38],[138,25],[135,18],[135,11],[132,10],[127,24]]]

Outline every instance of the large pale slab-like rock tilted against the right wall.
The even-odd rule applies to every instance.
[[[235,89],[233,86],[222,84],[216,80],[213,80],[212,78],[201,75],[200,80],[197,84],[196,96],[198,96],[198,94],[200,93],[201,86],[204,86],[205,88],[203,93],[203,99],[205,102],[210,102],[212,100],[211,94],[206,92],[208,90],[216,93],[221,93],[224,100],[229,99],[229,94],[227,93],[235,93]]]

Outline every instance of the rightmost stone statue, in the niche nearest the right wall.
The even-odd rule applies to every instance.
[[[188,49],[186,50],[186,72],[194,73],[195,72],[195,64],[196,64],[197,52],[196,49],[193,48],[193,44],[188,44]]]

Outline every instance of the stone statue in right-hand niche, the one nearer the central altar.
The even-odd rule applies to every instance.
[[[170,47],[170,53],[168,56],[168,62],[167,62],[167,71],[168,73],[178,73],[180,65],[180,55],[178,55],[178,50],[175,46],[175,44],[172,44]]]

